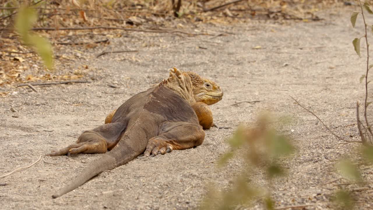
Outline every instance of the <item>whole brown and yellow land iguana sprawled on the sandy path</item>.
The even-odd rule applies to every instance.
[[[149,157],[201,145],[205,133],[200,124],[205,122],[210,127],[213,124],[211,110],[202,101],[212,102],[203,98],[217,102],[223,96],[218,85],[205,82],[194,72],[182,72],[174,67],[167,79],[123,103],[110,117],[110,123],[87,130],[75,144],[48,154],[105,153],[109,150],[90,162],[52,197],[60,197],[101,172],[122,166],[141,154]],[[216,90],[211,94],[197,93],[195,87],[202,83],[206,89]]]

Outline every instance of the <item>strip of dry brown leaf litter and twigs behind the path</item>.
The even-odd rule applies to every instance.
[[[29,1],[37,11],[37,21],[31,28],[48,38],[55,52],[70,45],[93,49],[109,45],[110,38],[133,31],[172,33],[178,36],[222,35],[203,29],[203,24],[231,24],[252,19],[318,21],[317,11],[330,6],[342,6],[336,0],[134,0],[134,1]],[[60,72],[61,63],[69,63],[77,55],[54,55],[55,70],[43,67],[35,50],[19,41],[15,17],[22,1],[7,0],[0,4],[0,86],[26,81],[76,80],[89,71],[84,66],[77,71]],[[178,11],[174,11],[177,10]],[[178,16],[178,17],[175,17]],[[96,38],[102,35],[106,38]],[[78,50],[79,51],[79,50]],[[25,70],[33,70],[25,74]],[[6,95],[1,92],[0,95]]]

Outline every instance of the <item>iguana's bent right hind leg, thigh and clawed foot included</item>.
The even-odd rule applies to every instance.
[[[205,138],[200,125],[186,122],[166,122],[159,132],[162,134],[148,140],[144,156],[165,154],[173,149],[189,149],[201,145]]]

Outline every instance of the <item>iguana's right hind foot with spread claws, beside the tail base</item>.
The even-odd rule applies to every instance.
[[[166,154],[172,151],[172,145],[167,143],[166,140],[154,137],[149,139],[148,145],[146,146],[146,150],[144,152],[145,157],[154,157],[159,154]]]

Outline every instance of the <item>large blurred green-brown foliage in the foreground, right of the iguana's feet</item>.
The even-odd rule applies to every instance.
[[[255,170],[266,172],[267,183],[272,183],[274,177],[285,175],[286,171],[279,165],[280,157],[294,152],[294,147],[283,135],[278,135],[271,128],[269,119],[273,116],[261,115],[255,127],[239,126],[228,144],[231,150],[223,154],[218,166],[223,167],[233,157],[242,158],[246,166],[238,173],[230,188],[220,191],[210,188],[205,196],[201,209],[236,209],[240,205],[248,205],[251,200],[261,195],[267,209],[274,209],[275,201],[270,197],[270,187],[266,189],[253,186],[249,183],[249,172]]]

